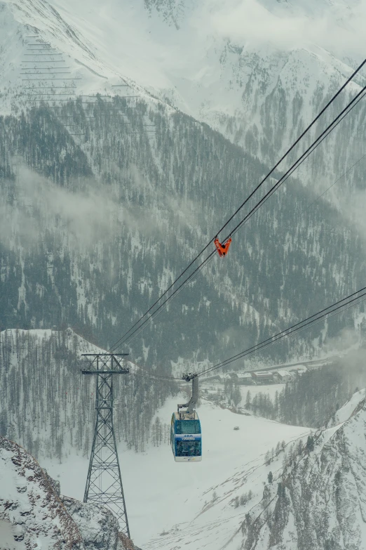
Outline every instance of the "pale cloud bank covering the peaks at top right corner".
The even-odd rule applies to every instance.
[[[342,57],[363,56],[366,47],[366,0],[355,1],[352,6],[331,6],[323,0],[304,6],[259,0],[205,0],[199,11],[201,31],[242,45],[271,43],[280,49],[316,45]]]

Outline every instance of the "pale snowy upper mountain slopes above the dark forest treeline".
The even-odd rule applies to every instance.
[[[0,89],[8,97],[3,110],[26,90],[27,67],[41,67],[29,48],[46,42],[56,55],[44,58],[50,60],[46,66],[55,67],[63,54],[69,67],[65,80],[57,81],[67,92],[151,91],[266,161],[275,150],[278,157],[278,149],[351,74],[365,46],[364,1],[2,0],[0,5]],[[37,78],[31,86],[56,84],[41,81],[41,74]],[[126,82],[132,87],[115,87]]]

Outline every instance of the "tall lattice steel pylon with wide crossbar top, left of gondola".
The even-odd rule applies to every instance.
[[[128,353],[83,353],[82,355],[88,360],[88,369],[83,369],[81,372],[97,376],[95,398],[97,421],[84,502],[95,502],[109,508],[118,518],[121,530],[130,537],[113,428],[113,376],[130,372],[130,369],[121,365],[121,357]]]

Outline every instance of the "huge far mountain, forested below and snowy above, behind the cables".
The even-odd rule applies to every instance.
[[[255,40],[229,0],[1,3],[1,110],[12,113],[0,122],[1,327],[87,326],[102,346],[114,343],[266,173],[258,158],[278,159],[350,74],[355,46],[332,57],[322,42],[314,53],[314,33],[294,40],[292,32],[290,46],[278,32],[271,37],[269,22],[288,30],[310,18],[318,28],[327,13],[341,27],[356,25],[358,4],[250,6],[254,22],[266,15],[266,40]],[[235,13],[248,34],[243,48]],[[182,111],[167,105],[169,90]],[[362,286],[362,105],[304,163],[301,181],[251,219],[244,240],[240,232],[233,263],[203,270],[197,290],[168,310],[175,320],[163,313],[149,325],[133,344],[135,359],[168,361],[169,371],[187,355],[215,360],[217,341],[228,356]],[[313,205],[355,162],[325,195],[332,207]],[[325,329],[320,343],[344,323]],[[348,317],[348,325],[357,323]],[[317,353],[318,343],[306,338],[279,359]]]

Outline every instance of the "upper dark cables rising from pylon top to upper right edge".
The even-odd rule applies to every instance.
[[[343,86],[341,86],[341,88],[337,91],[337,93],[328,101],[328,103],[325,105],[325,107],[323,107],[323,109],[319,112],[319,114],[316,116],[316,118],[313,119],[313,122],[311,122],[311,124],[309,124],[309,126],[307,126],[307,128],[304,130],[304,132],[301,133],[301,136],[299,136],[299,138],[297,138],[297,140],[291,145],[291,147],[287,150],[287,152],[285,152],[285,154],[280,158],[280,160],[275,164],[275,166],[273,166],[273,168],[271,169],[271,171],[269,171],[269,173],[266,174],[266,176],[265,176],[265,177],[262,179],[262,181],[257,185],[257,187],[250,193],[250,195],[245,199],[245,201],[244,201],[242,204],[240,204],[240,207],[238,207],[238,209],[236,209],[236,211],[232,214],[232,216],[224,223],[224,225],[222,225],[222,228],[217,232],[217,235],[218,235],[219,233],[222,232],[222,230],[226,227],[226,225],[228,225],[228,224],[230,223],[230,221],[234,218],[234,216],[236,216],[236,214],[238,214],[238,212],[240,211],[240,209],[242,209],[242,208],[245,206],[245,204],[247,204],[247,202],[250,200],[250,198],[251,198],[253,195],[255,195],[255,192],[257,192],[257,190],[263,185],[263,183],[269,178],[269,176],[271,176],[271,174],[273,173],[273,171],[276,170],[276,168],[277,168],[277,167],[279,166],[279,164],[283,161],[283,159],[285,159],[285,157],[287,157],[287,155],[290,154],[290,152],[291,152],[291,151],[294,149],[294,147],[299,143],[299,141],[305,136],[305,134],[311,129],[311,127],[312,127],[312,126],[318,121],[318,119],[322,116],[322,114],[325,112],[325,110],[327,110],[327,108],[330,107],[330,105],[331,105],[331,104],[334,102],[334,100],[339,96],[339,94],[346,88],[346,86],[347,86],[347,85],[349,84],[349,82],[353,79],[353,77],[355,77],[355,75],[358,74],[358,72],[360,72],[360,70],[361,70],[362,67],[365,65],[365,63],[366,63],[366,59],[365,59],[364,61],[362,61],[362,63],[359,65],[359,67],[353,72],[353,74],[351,74],[351,77],[349,77],[349,78],[346,80],[346,82],[343,84]],[[365,88],[362,89],[362,91],[361,91],[360,93],[362,93],[363,91],[365,91]],[[358,96],[360,96],[360,93],[358,93]],[[357,98],[358,96],[356,96],[356,98]],[[354,99],[351,101],[351,103],[353,103],[353,101],[354,101],[356,98],[354,98]],[[346,109],[351,105],[351,103],[348,104],[348,106],[346,107]],[[345,109],[345,110],[346,110],[346,109]],[[342,113],[344,113],[345,110],[343,110]],[[341,113],[341,114],[342,114],[342,113]],[[341,114],[339,115],[339,117],[341,116]],[[337,119],[339,119],[339,117],[337,117]],[[334,121],[333,121],[332,124],[334,124]],[[332,124],[331,124],[330,126],[332,126]],[[330,128],[330,126],[328,126],[328,129]],[[323,132],[323,133],[324,133],[324,132]],[[323,133],[321,134],[321,136],[323,136]],[[321,137],[321,136],[320,136],[320,137]],[[320,137],[318,138],[318,140],[320,139]],[[316,140],[316,142],[317,142],[318,140]],[[316,143],[316,142],[314,142],[314,143]],[[313,145],[314,145],[314,144],[313,144]],[[306,155],[307,152],[309,152],[309,149],[306,150],[306,152],[304,153],[304,155]],[[309,152],[309,154],[310,154],[310,152]],[[301,155],[300,159],[301,159],[302,157],[304,157],[304,155]],[[299,162],[299,160],[298,160],[297,162]],[[294,167],[296,164],[297,164],[297,163],[294,163],[294,164],[292,165],[292,168],[293,168],[293,169],[296,169],[296,168]],[[296,166],[296,167],[297,167],[297,166]],[[288,171],[287,171],[287,173],[288,173]],[[286,173],[286,174],[287,174],[287,173]],[[285,174],[285,176],[286,176],[286,174]],[[283,177],[285,177],[285,176],[283,176]],[[281,178],[281,180],[282,180],[282,178]],[[281,180],[280,180],[280,181],[281,181]],[[276,186],[277,186],[277,185],[279,186],[280,183],[278,182],[278,183],[276,184]],[[277,188],[277,187],[276,187],[276,188]],[[269,193],[274,192],[274,191],[276,190],[276,188],[274,188],[273,190],[270,190],[270,192],[268,192],[268,193],[263,197],[263,199],[261,199],[261,201],[259,201],[259,203],[258,203],[257,206],[255,207],[255,209],[259,208],[259,206],[262,204],[262,202],[265,202],[266,197],[269,195]],[[250,212],[250,214],[248,214],[248,216],[250,216],[251,214],[252,214],[252,212]],[[234,228],[233,231],[231,231],[231,233],[229,234],[229,236],[232,235],[233,233],[236,233],[236,231],[240,228],[240,226],[243,225],[243,223],[245,223],[246,218],[248,218],[248,216],[246,216],[246,217],[236,226],[236,228]],[[215,236],[216,236],[216,235],[215,235]],[[226,240],[227,238],[229,238],[229,236],[226,237],[225,240]],[[206,246],[201,250],[201,252],[200,252],[199,254],[197,254],[197,256],[191,261],[191,263],[189,263],[189,266],[187,266],[187,268],[185,268],[185,269],[182,271],[182,273],[175,279],[175,281],[173,281],[173,282],[170,284],[170,286],[168,287],[168,289],[166,289],[165,292],[163,292],[163,294],[161,294],[161,296],[159,296],[159,298],[152,304],[152,306],[150,306],[150,308],[144,313],[144,315],[142,315],[142,316],[140,317],[140,319],[138,319],[138,320],[135,322],[135,324],[134,324],[132,327],[130,327],[130,329],[128,329],[128,331],[125,332],[125,334],[123,334],[123,336],[121,336],[121,338],[118,339],[118,341],[116,341],[116,343],[115,343],[113,346],[111,346],[111,349],[116,349],[117,346],[120,346],[122,343],[125,343],[128,339],[130,339],[130,336],[133,336],[133,334],[135,334],[135,332],[137,332],[137,331],[140,332],[140,328],[141,328],[143,325],[145,325],[146,322],[148,322],[148,320],[151,318],[151,316],[148,317],[148,319],[145,320],[145,321],[142,323],[142,325],[140,325],[139,327],[137,327],[137,325],[139,325],[140,322],[144,319],[144,317],[146,317],[146,316],[150,313],[150,311],[158,304],[158,302],[161,301],[161,299],[163,298],[163,296],[165,296],[165,294],[168,294],[168,292],[170,291],[170,289],[172,289],[172,287],[174,287],[174,285],[177,283],[177,281],[178,281],[179,279],[181,279],[185,273],[187,273],[187,270],[189,270],[189,268],[196,262],[196,260],[203,254],[203,252],[204,252],[205,250],[208,249],[208,247],[210,246],[210,244],[213,242],[214,239],[215,239],[215,237],[212,237],[212,239],[208,242],[208,244],[206,244]],[[223,242],[224,242],[224,241],[223,241]],[[206,262],[208,261],[208,259],[211,258],[211,257],[213,256],[213,254],[215,254],[215,251],[213,251],[213,252],[208,256],[208,258],[205,258],[205,261],[203,261],[203,263],[206,263]],[[201,266],[203,266],[203,264],[201,264]],[[199,266],[199,268],[200,268],[201,266]],[[191,276],[193,276],[193,275],[197,272],[197,270],[198,270],[198,268],[197,268],[196,270],[194,270],[194,272],[193,272],[189,277],[187,277],[187,279],[184,281],[183,284],[186,284],[186,283],[191,279]],[[182,286],[182,285],[181,285],[181,286]],[[179,287],[179,288],[180,288],[180,287]],[[179,290],[179,288],[178,288],[177,290]],[[168,300],[170,300],[170,299],[172,298],[172,296],[174,296],[174,295],[176,294],[176,292],[177,292],[177,291],[173,292],[170,296],[168,296]],[[164,302],[164,303],[165,303],[165,302]],[[163,306],[164,303],[161,304],[161,306]],[[160,307],[161,307],[161,306],[160,306]],[[160,309],[160,307],[159,307],[152,315],[154,315],[154,314]],[[135,329],[135,327],[137,327],[137,329]],[[133,330],[133,329],[135,329],[135,330]],[[133,331],[133,332],[132,332],[132,331]],[[131,333],[131,334],[130,334],[130,333]]]

